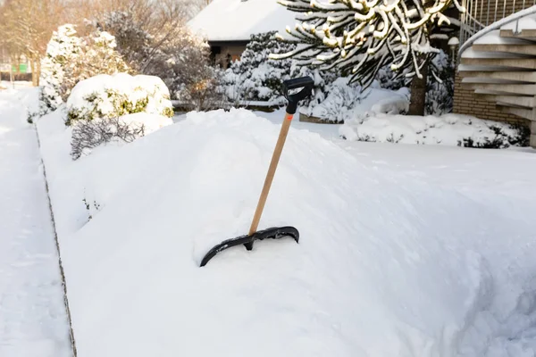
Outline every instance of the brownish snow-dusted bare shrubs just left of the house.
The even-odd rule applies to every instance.
[[[221,73],[210,66],[210,46],[184,24],[166,28],[163,33],[154,29],[150,33],[146,24],[127,10],[108,12],[93,26],[115,36],[117,51],[131,68],[163,79],[172,99],[195,110],[205,110],[222,101]]]

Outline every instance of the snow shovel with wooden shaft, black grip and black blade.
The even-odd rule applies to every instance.
[[[285,119],[281,125],[281,132],[275,145],[275,149],[272,154],[272,162],[270,162],[270,168],[266,174],[266,179],[264,179],[264,187],[259,197],[259,202],[255,210],[255,215],[253,216],[253,221],[251,222],[251,227],[249,232],[245,236],[235,237],[228,240],[224,240],[219,245],[215,245],[208,253],[205,254],[205,257],[201,261],[201,267],[210,261],[214,255],[222,252],[223,250],[230,248],[235,245],[245,245],[248,251],[253,249],[253,243],[255,240],[263,240],[267,238],[279,239],[282,237],[292,237],[296,240],[296,243],[299,240],[299,232],[297,228],[294,227],[272,227],[264,230],[258,230],[259,221],[261,220],[261,215],[264,210],[264,203],[266,203],[266,198],[268,197],[268,192],[272,186],[273,176],[275,175],[275,170],[277,164],[281,157],[281,152],[283,150],[283,145],[285,145],[285,139],[289,133],[290,122],[294,117],[294,114],[297,110],[297,104],[299,101],[306,99],[311,95],[314,87],[314,81],[310,77],[302,77],[297,79],[289,79],[283,82],[283,92],[285,98],[289,101],[287,104]],[[300,89],[301,90],[297,90]],[[292,93],[292,94],[291,94]]]

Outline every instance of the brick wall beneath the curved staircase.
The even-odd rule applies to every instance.
[[[454,84],[453,112],[457,114],[473,115],[480,119],[504,121],[512,124],[520,124],[526,127],[530,126],[530,120],[526,120],[507,112],[501,112],[498,109],[498,105],[483,99],[481,95],[475,95],[473,89],[463,88],[461,78],[457,73]]]

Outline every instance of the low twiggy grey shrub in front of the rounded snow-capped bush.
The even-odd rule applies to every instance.
[[[96,146],[111,142],[131,143],[157,129],[171,125],[172,119],[138,112],[121,117],[79,120],[72,126],[71,157],[77,160]]]

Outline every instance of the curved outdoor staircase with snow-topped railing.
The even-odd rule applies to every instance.
[[[514,2],[512,13],[498,20],[497,7],[490,16],[493,7],[488,1],[481,0],[480,13],[481,19],[490,20],[487,26],[475,20],[479,18],[471,12],[474,4],[468,4],[467,13],[462,14],[461,85],[497,105],[501,112],[531,120],[531,145],[536,147],[536,4],[523,2],[523,8],[520,5],[516,10]],[[505,1],[503,11],[506,9]]]

